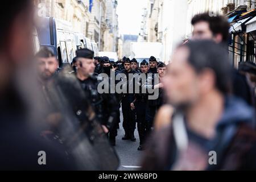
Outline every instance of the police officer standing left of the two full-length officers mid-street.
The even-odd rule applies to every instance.
[[[131,69],[131,60],[127,58],[123,65],[125,69],[123,69],[119,73],[124,73],[126,75],[126,84],[123,84],[123,86],[126,86],[127,93],[123,93],[122,96],[122,112],[123,112],[123,129],[125,130],[125,136],[122,138],[123,140],[131,140],[135,141],[136,138],[134,137],[134,130],[135,130],[135,113],[134,113],[134,94],[129,93],[129,85],[131,84],[129,82],[129,74],[135,74],[137,72],[133,71]],[[133,110],[131,110],[133,109]]]

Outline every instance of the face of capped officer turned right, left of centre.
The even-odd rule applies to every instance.
[[[95,64],[93,59],[86,59],[83,57],[79,57],[77,60],[77,73],[88,77],[93,74],[95,69]]]

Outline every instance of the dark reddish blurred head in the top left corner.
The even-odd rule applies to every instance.
[[[0,87],[32,56],[33,8],[30,0],[6,1],[0,6]]]

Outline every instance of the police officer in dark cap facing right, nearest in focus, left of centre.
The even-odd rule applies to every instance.
[[[117,117],[115,109],[117,102],[110,94],[99,94],[97,77],[92,76],[95,65],[93,63],[93,51],[79,49],[77,55],[77,78],[94,107],[98,120],[105,132],[112,128]]]

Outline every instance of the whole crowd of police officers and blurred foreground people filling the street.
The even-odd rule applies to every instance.
[[[143,170],[256,169],[256,65],[232,67],[223,16],[196,15],[191,39],[168,65],[154,56],[114,62],[79,49],[59,68],[51,49],[32,54],[31,1],[6,9],[0,169],[115,170],[121,114],[122,140],[135,142],[138,130]]]

